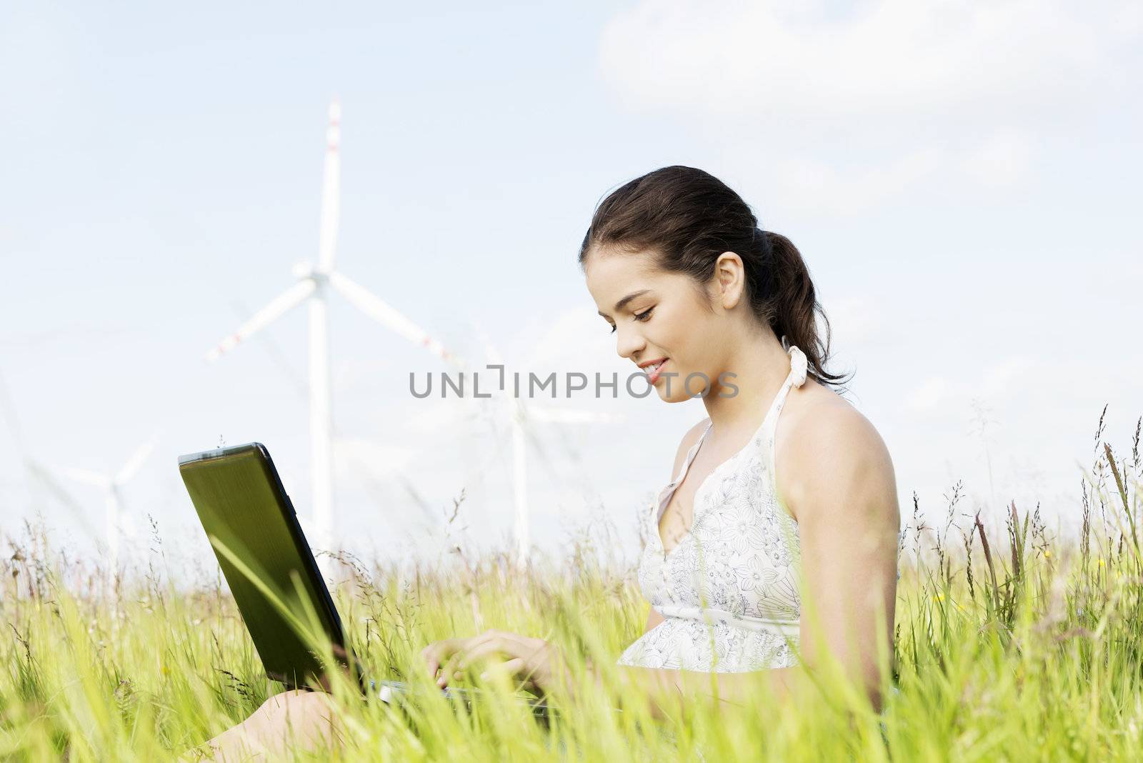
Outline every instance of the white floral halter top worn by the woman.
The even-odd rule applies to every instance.
[[[657,511],[647,512],[650,540],[639,586],[664,620],[628,646],[620,665],[737,673],[798,662],[791,649],[801,617],[798,523],[774,488],[778,415],[790,388],[806,380],[805,353],[796,346],[788,352],[790,374],[762,425],[698,485],[690,531],[669,553],[658,522],[710,423],[660,491]]]

